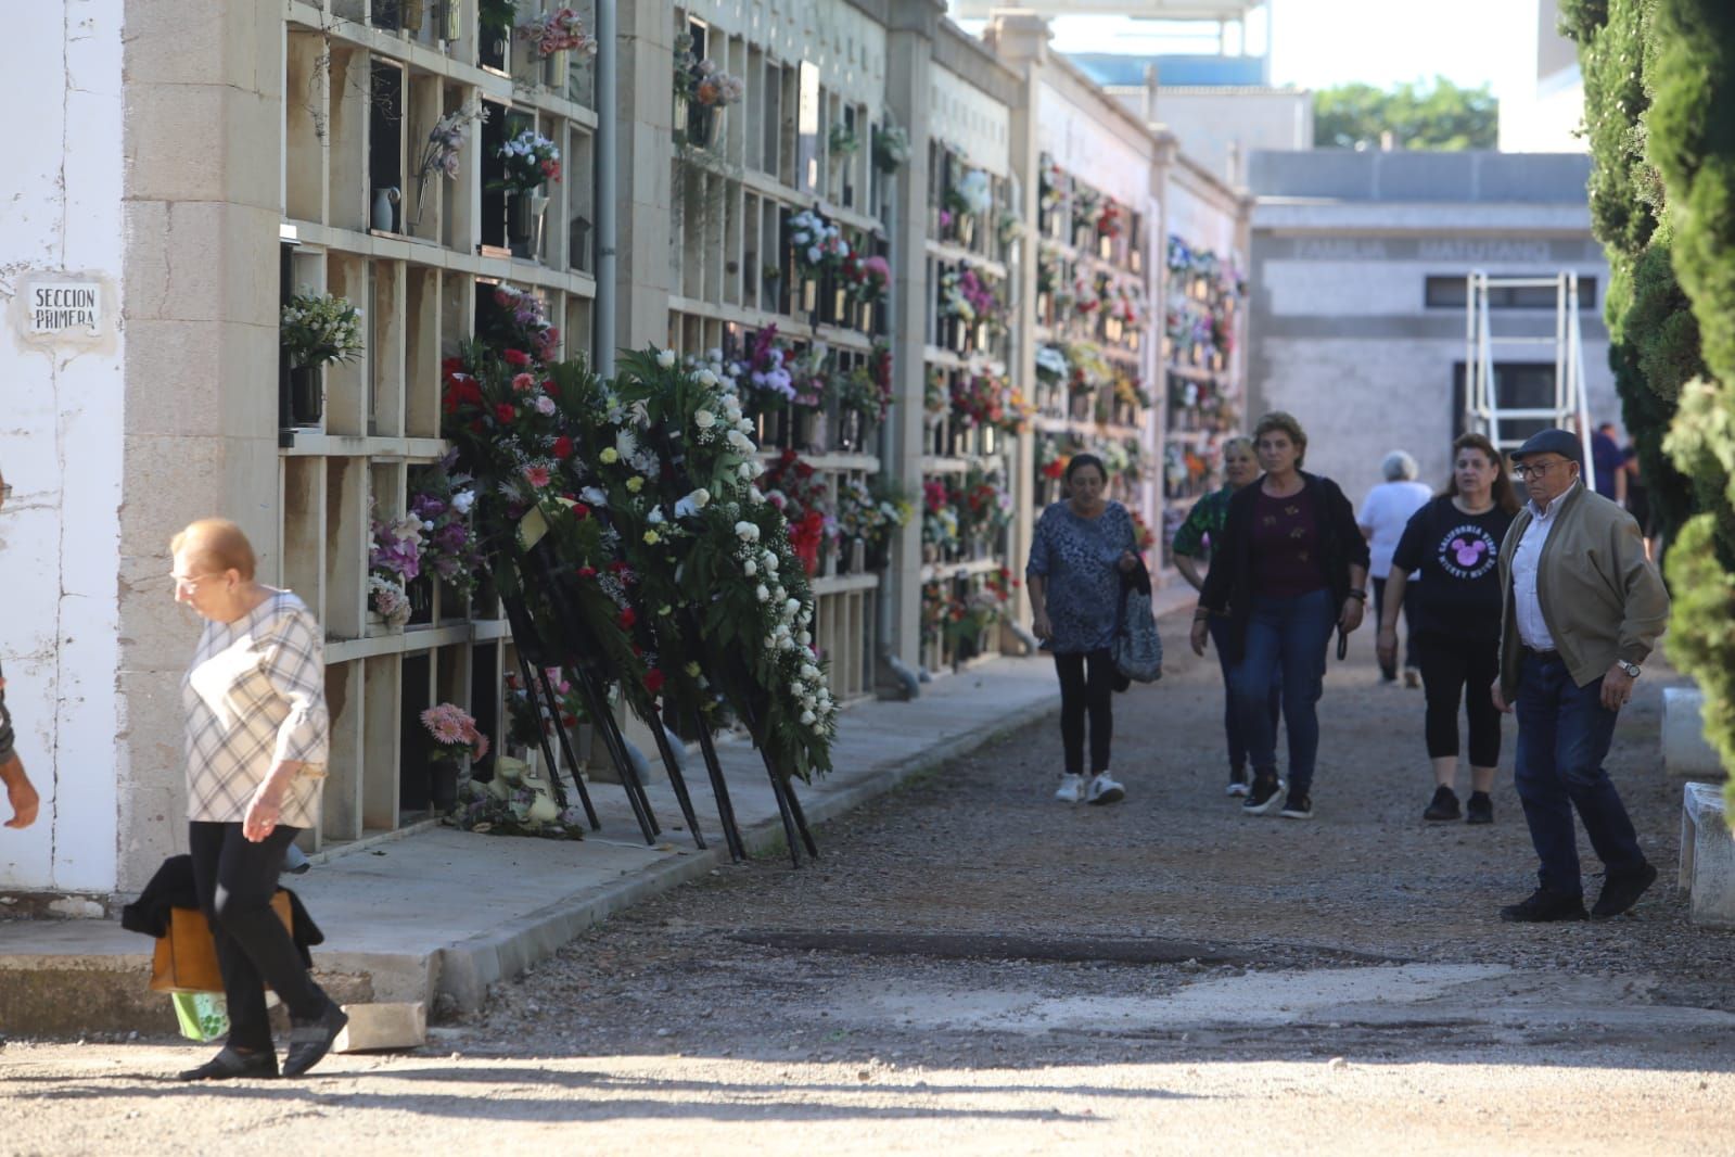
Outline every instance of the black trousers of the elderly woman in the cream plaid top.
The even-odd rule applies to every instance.
[[[283,850],[297,834],[298,827],[279,824],[252,843],[239,824],[189,824],[193,883],[217,940],[217,968],[229,999],[229,1044],[241,1049],[272,1048],[267,984],[297,1020],[314,1020],[326,1010],[324,990],[307,975],[290,930],[271,911]]]

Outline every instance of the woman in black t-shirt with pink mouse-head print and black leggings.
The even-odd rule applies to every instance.
[[[1492,824],[1494,768],[1501,762],[1501,713],[1489,687],[1499,677],[1501,539],[1518,512],[1506,461],[1480,434],[1452,442],[1452,480],[1416,512],[1391,555],[1379,616],[1381,661],[1397,654],[1398,609],[1409,598],[1411,647],[1428,696],[1428,758],[1433,800],[1423,819],[1450,820],[1457,808],[1457,703],[1470,716],[1468,822]],[[1409,574],[1421,571],[1411,583]],[[1468,687],[1468,694],[1464,689]]]

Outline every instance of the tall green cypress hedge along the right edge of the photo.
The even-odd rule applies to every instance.
[[[1584,73],[1615,387],[1679,526],[1669,657],[1735,768],[1735,3],[1563,0],[1562,31]]]

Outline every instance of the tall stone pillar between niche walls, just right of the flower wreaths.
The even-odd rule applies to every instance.
[[[923,451],[923,345],[928,314],[926,199],[933,38],[942,0],[888,0],[887,3],[887,108],[909,132],[909,161],[897,172],[897,215],[892,220],[892,373],[895,404],[890,413],[888,456],[883,470],[916,501],[918,515],[892,539],[887,600],[892,612],[883,656],[897,656],[909,670],[921,663],[921,451]],[[883,657],[881,656],[881,657]],[[900,694],[885,664],[876,664],[883,694]]]

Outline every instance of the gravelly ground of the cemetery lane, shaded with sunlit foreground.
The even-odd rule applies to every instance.
[[[1317,817],[1242,817],[1183,628],[1116,703],[1124,803],[1053,801],[1032,725],[822,827],[819,864],[611,919],[416,1053],[186,1088],[158,1079],[182,1044],[12,1041],[0,1150],[1735,1152],[1735,933],[1671,886],[1660,664],[1608,767],[1662,878],[1615,921],[1515,926],[1511,722],[1496,824],[1423,822],[1421,692],[1378,685],[1362,631]]]

